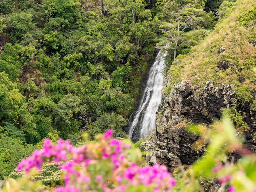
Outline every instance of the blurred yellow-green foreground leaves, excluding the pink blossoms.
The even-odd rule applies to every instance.
[[[201,158],[199,158],[196,162],[194,162],[193,165],[181,165],[179,168],[177,168],[173,173],[174,179],[176,180],[176,182],[174,183],[176,184],[172,187],[172,189],[168,188],[168,191],[173,191],[173,192],[174,191],[176,192],[177,191],[182,191],[182,192],[202,191],[203,192],[204,189],[205,188],[207,189],[209,186],[214,187],[212,188],[213,191],[222,191],[222,192],[224,191],[250,192],[255,190],[256,155],[252,151],[244,148],[242,138],[238,138],[236,136],[236,131],[230,119],[224,117],[220,122],[213,123],[213,125],[210,126],[210,128],[207,128],[203,125],[197,125],[197,126],[189,125],[187,127],[187,130],[192,133],[201,135],[201,138],[193,144],[193,147],[198,149],[201,147],[205,147],[205,145],[207,145],[205,154]],[[101,140],[102,140],[102,137],[101,137]],[[117,140],[110,141],[110,146],[112,146],[113,142],[123,143],[123,141],[117,141]],[[60,144],[63,144],[63,143],[58,142],[58,145]],[[105,143],[105,145],[107,146],[107,143]],[[97,151],[102,148],[102,141],[100,141],[98,144],[91,143],[91,144],[88,144],[87,146],[89,148],[88,149],[84,148],[84,152],[86,150],[89,150],[91,151],[89,154],[91,153],[93,154],[95,152],[98,155],[101,154]],[[78,151],[80,151],[82,148],[80,148]],[[59,149],[59,147],[57,147],[56,149]],[[55,150],[55,149],[49,148],[49,150]],[[136,150],[138,150],[138,148]],[[123,162],[129,161],[132,159],[138,159],[138,158],[141,159],[141,153],[136,150],[130,149],[127,151],[123,151],[124,154],[126,155],[129,154],[127,156],[127,159],[124,160]],[[73,152],[73,153],[77,153],[77,152]],[[83,153],[83,151],[80,151],[79,153]],[[234,161],[234,157],[232,157],[230,161],[228,159],[228,156],[230,154],[233,156],[235,155],[235,153],[240,154],[243,157],[236,162]],[[62,156],[63,154],[60,157]],[[79,156],[73,156],[73,158],[75,159],[78,157]],[[79,166],[77,166],[76,170],[83,174],[89,173],[91,171],[93,171],[92,173],[95,174],[94,172],[96,171],[97,174],[101,176],[102,179],[105,178],[105,176],[107,176],[108,174],[112,174],[108,172],[106,175],[105,171],[108,168],[102,169],[105,166],[104,164],[105,158],[101,158],[100,156],[97,156],[97,159],[98,160],[91,165],[92,167],[89,166],[87,169],[82,170],[81,168],[79,168]],[[27,161],[26,164],[24,164],[23,162],[24,165],[22,164],[22,166],[25,166],[25,167],[30,166],[30,163],[32,163],[35,160],[31,159]],[[140,162],[139,164],[141,165],[141,163],[142,162]],[[146,167],[145,169],[148,169],[148,165]],[[120,172],[120,171],[121,170],[118,170],[117,172]],[[38,176],[35,175],[35,170],[34,170],[30,172],[30,176],[23,176],[18,178],[17,180],[13,180],[13,179],[7,180],[3,188],[3,192],[42,191],[42,190],[45,190],[45,187],[46,187],[44,186],[45,184],[48,186],[50,183],[55,183],[57,184],[57,186],[61,184],[63,180],[63,179],[60,179],[62,174],[64,174],[64,172],[59,171],[56,165],[46,163],[43,166],[42,171],[38,173]],[[136,169],[134,169],[132,173],[129,172],[129,174],[131,174],[129,178],[132,178],[133,177],[132,175],[137,174]],[[21,175],[22,174],[18,174],[15,172],[11,174],[11,176],[14,178],[17,178]],[[116,175],[114,174],[114,176]],[[147,181],[146,177],[147,176],[144,176],[144,179],[143,179],[145,180],[145,182]],[[107,185],[109,185],[109,183],[112,183],[110,186],[113,189],[113,191],[144,191],[144,189],[145,190],[147,189],[149,191],[155,191],[153,188],[150,189],[148,187],[145,187],[143,189],[142,186],[140,186],[139,188],[136,188],[136,187],[135,188],[130,188],[130,187],[118,188],[116,187],[116,184],[117,184],[116,182],[119,182],[117,177],[115,177],[117,181],[114,179],[113,176],[109,177],[108,175],[108,178],[112,178],[112,179],[105,180],[106,179],[105,178],[103,180],[105,180],[108,183]],[[54,179],[55,179],[55,182],[53,181]],[[139,177],[139,179],[141,178]],[[93,183],[91,183],[91,185],[95,184],[95,186],[98,186],[98,184],[100,184],[103,180],[95,180]],[[47,184],[47,182],[50,182],[50,183]],[[76,186],[80,188],[81,187],[79,186],[80,181],[77,180],[77,182],[78,183]],[[130,181],[127,180],[126,182],[123,183],[124,186],[129,186]],[[105,186],[105,185],[102,185],[102,186]],[[90,188],[94,188],[94,187],[91,186]],[[50,190],[50,188],[48,188],[48,190]],[[55,190],[55,189],[52,188],[51,190]],[[93,191],[102,191],[102,189],[101,187],[99,187],[98,190],[93,190]]]

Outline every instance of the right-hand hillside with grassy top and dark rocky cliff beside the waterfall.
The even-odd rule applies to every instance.
[[[188,132],[188,125],[212,130],[223,114],[244,138],[244,150],[255,151],[255,10],[255,1],[234,2],[207,37],[172,62],[156,112],[156,130],[141,144],[150,151],[150,164],[164,164],[170,172],[193,164],[206,153],[207,142],[193,148],[194,142],[204,141]],[[227,161],[243,156],[228,154]]]

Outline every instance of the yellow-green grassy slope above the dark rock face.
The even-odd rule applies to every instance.
[[[220,83],[235,84],[238,97],[242,101],[251,101],[251,93],[256,89],[256,74],[252,70],[256,66],[256,48],[249,41],[255,36],[256,28],[247,30],[238,27],[236,18],[255,4],[253,0],[237,0],[215,30],[192,48],[192,52],[179,55],[168,71],[172,83],[186,80],[202,87],[206,81],[213,81],[215,86]],[[220,53],[222,46],[226,48],[226,53]],[[218,53],[214,52],[215,49]],[[218,69],[216,64],[224,60],[233,63],[234,67],[225,71]],[[240,76],[245,79],[243,83],[238,81]]]

